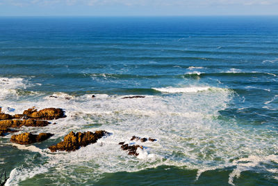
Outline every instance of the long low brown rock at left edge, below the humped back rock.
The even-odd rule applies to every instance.
[[[9,128],[9,127],[44,127],[50,124],[48,121],[42,120],[2,120],[0,121],[0,128]]]

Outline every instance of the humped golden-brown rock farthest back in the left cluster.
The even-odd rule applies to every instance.
[[[65,118],[63,109],[47,108],[37,111],[37,109],[27,109],[23,112],[24,116],[35,119],[53,120],[58,118]]]

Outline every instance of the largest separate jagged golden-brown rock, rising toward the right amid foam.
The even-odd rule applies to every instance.
[[[97,130],[95,133],[93,132],[70,132],[64,137],[64,141],[60,143],[49,146],[49,150],[51,152],[56,152],[57,150],[65,150],[67,152],[78,150],[81,146],[88,146],[89,144],[95,144],[97,139],[106,136],[109,134],[104,130]]]

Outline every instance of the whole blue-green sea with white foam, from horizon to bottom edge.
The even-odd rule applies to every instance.
[[[0,107],[67,115],[0,137],[7,185],[278,185],[278,17],[0,17]]]

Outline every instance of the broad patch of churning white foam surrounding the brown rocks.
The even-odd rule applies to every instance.
[[[189,89],[188,89],[189,88]],[[72,153],[50,153],[49,150],[34,148],[34,146],[17,146],[22,150],[40,153],[40,165],[32,162],[32,157],[26,157],[30,162],[28,169],[15,169],[10,174],[9,184],[17,184],[31,176],[47,172],[51,179],[67,178],[74,174],[71,167],[88,167],[92,173],[84,173],[95,180],[102,173],[117,171],[140,171],[160,165],[186,166],[187,169],[198,169],[198,175],[208,169],[234,166],[231,159],[242,157],[246,153],[254,154],[254,148],[261,149],[259,155],[274,153],[274,146],[265,144],[263,139],[275,141],[275,136],[269,136],[267,130],[254,131],[251,127],[240,127],[236,123],[225,123],[218,120],[218,111],[226,109],[233,93],[229,89],[210,86],[194,86],[175,89],[166,88],[167,92],[182,93],[177,95],[145,95],[140,99],[122,99],[123,95],[74,96],[56,93],[58,98],[47,96],[38,100],[22,102],[0,100],[6,107],[15,108],[15,113],[22,113],[28,107],[38,109],[45,107],[60,107],[65,109],[66,118],[60,118],[46,127],[23,127],[24,132],[54,133],[51,140],[62,140],[70,131],[106,130],[112,134],[99,139],[96,144],[82,147]],[[191,89],[190,89],[191,88]],[[208,90],[216,91],[208,91]],[[163,90],[164,91],[164,90]],[[201,91],[202,93],[198,93]],[[188,93],[189,92],[189,93]],[[191,93],[190,93],[191,92]],[[129,95],[126,95],[129,96]],[[62,97],[62,98],[60,98]],[[55,100],[55,101],[53,101]],[[144,146],[138,150],[138,158],[127,155],[118,145],[121,141],[130,141],[131,137],[152,137],[156,142],[147,141],[136,144]],[[231,138],[232,136],[232,138]],[[7,136],[9,137],[9,136]],[[274,143],[274,142],[272,142]],[[245,148],[243,148],[245,146]],[[275,148],[276,149],[276,148]],[[98,153],[95,153],[98,152]],[[243,153],[244,152],[244,153]],[[49,171],[55,167],[55,172]],[[239,167],[239,166],[238,166]],[[31,171],[33,169],[33,171]],[[31,174],[28,172],[31,171]],[[56,175],[60,175],[57,178]],[[197,175],[197,178],[199,177]],[[234,177],[231,175],[231,180]],[[81,178],[75,178],[81,183]]]

